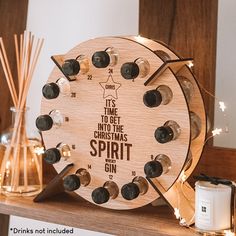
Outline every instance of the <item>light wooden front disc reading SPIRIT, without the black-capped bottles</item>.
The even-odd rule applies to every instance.
[[[189,151],[189,109],[176,76],[167,69],[151,85],[144,85],[163,64],[154,51],[163,50],[171,59],[177,59],[177,56],[157,42],[137,41],[135,38],[104,37],[79,44],[64,55],[64,59],[83,54],[88,57],[90,68],[87,74],[78,74],[76,80],[70,82],[73,96],[60,94],[53,100],[42,99],[42,114],[59,110],[67,117],[67,121],[59,128],[53,127],[43,132],[47,149],[56,147],[61,142],[71,147],[71,157],[54,167],[59,172],[65,165],[73,162],[75,167],[72,173],[79,168],[88,170],[91,175],[90,184],[79,188],[76,193],[90,202],[93,202],[92,191],[103,186],[106,181],[114,181],[120,190],[136,176],[145,177],[144,165],[158,154],[167,155],[172,163],[171,170],[158,178],[167,191],[181,173]],[[104,69],[95,68],[91,63],[93,53],[108,47],[117,50],[118,63]],[[144,78],[125,80],[120,74],[122,64],[133,62],[139,57],[149,62],[149,74]],[[189,76],[194,80],[191,74]],[[64,75],[55,67],[48,82],[56,82],[61,77]],[[146,107],[143,103],[144,93],[159,85],[168,86],[173,92],[173,99],[168,105]],[[199,106],[202,108],[202,104]],[[181,134],[174,141],[160,144],[155,140],[154,132],[168,120],[179,124]],[[200,155],[197,160],[199,157]],[[149,185],[146,194],[132,201],[125,200],[119,193],[117,198],[110,199],[102,206],[132,209],[146,205],[157,197],[158,194]]]

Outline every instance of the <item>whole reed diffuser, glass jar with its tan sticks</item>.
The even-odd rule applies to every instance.
[[[43,40],[36,40],[31,33],[25,32],[20,35],[20,41],[14,35],[14,41],[18,90],[0,38],[0,61],[14,104],[12,127],[1,136],[0,193],[32,196],[42,189],[43,147],[40,136],[32,138],[27,133],[26,98]]]

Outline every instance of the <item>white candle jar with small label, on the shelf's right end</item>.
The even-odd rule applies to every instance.
[[[195,226],[203,231],[231,227],[231,186],[206,181],[195,184]]]

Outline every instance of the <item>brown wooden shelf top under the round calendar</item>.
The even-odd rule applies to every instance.
[[[116,211],[92,205],[77,195],[66,193],[42,203],[34,203],[32,198],[0,195],[0,213],[113,235],[198,235],[179,226],[167,206]]]

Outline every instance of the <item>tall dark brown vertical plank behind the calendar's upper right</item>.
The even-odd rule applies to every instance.
[[[139,31],[163,41],[182,57],[194,58],[193,71],[208,91],[215,89],[217,0],[140,0]],[[204,94],[207,113],[214,103]]]

